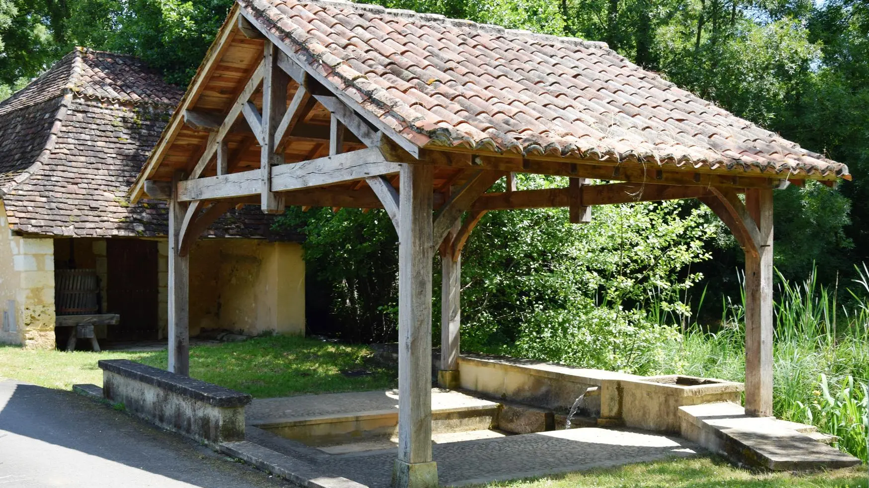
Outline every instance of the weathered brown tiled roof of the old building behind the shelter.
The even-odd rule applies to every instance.
[[[78,48],[0,103],[0,192],[10,228],[165,235],[165,204],[130,205],[127,193],[181,96],[134,57]],[[244,208],[209,234],[272,237],[270,228],[271,217]]]

